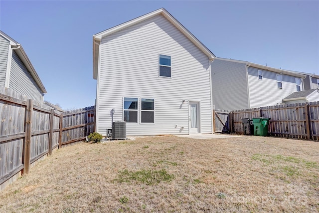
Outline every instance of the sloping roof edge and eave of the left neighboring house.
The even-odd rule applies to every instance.
[[[16,49],[13,49],[13,51],[18,55],[18,57],[20,58],[20,60],[24,64],[24,66],[27,68],[27,70],[29,71],[29,73],[31,74],[33,79],[35,80],[36,84],[41,89],[41,91],[43,93],[47,93],[42,81],[40,80],[38,74],[36,73],[36,71],[35,71],[31,61],[29,60],[28,56],[26,55],[22,45],[19,44],[17,41],[15,41],[10,36],[8,36],[7,34],[5,34],[4,32],[2,32],[1,30],[0,30],[0,35],[2,35],[5,39],[7,39],[9,41],[10,45],[13,48],[16,48]]]

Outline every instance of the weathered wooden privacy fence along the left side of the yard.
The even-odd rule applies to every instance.
[[[0,93],[0,191],[52,150],[95,131],[94,106],[66,113],[42,107]]]

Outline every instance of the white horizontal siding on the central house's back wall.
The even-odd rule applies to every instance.
[[[171,56],[171,78],[159,77],[159,54]],[[127,135],[188,134],[188,101],[200,101],[200,131],[212,132],[209,59],[162,15],[102,38],[99,55],[99,133],[111,128],[112,108],[123,120],[123,97],[139,98]],[[154,124],[140,123],[141,98],[155,99]]]

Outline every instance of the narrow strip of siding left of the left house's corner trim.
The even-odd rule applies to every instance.
[[[8,59],[9,41],[0,35],[0,85],[5,84],[6,64]]]

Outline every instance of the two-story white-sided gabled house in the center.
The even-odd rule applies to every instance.
[[[97,132],[120,120],[127,135],[212,133],[214,58],[164,8],[95,34]]]

